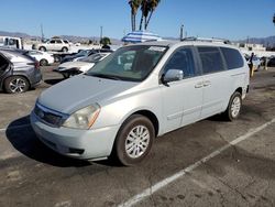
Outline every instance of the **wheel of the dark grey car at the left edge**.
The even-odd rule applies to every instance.
[[[21,94],[29,90],[30,84],[25,77],[11,76],[4,80],[4,90],[8,94]]]

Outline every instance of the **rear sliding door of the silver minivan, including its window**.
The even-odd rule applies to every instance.
[[[204,103],[201,119],[224,110],[231,96],[232,77],[226,68],[220,48],[198,46],[204,78]]]

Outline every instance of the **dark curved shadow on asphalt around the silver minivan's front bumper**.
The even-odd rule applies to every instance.
[[[88,161],[59,155],[44,145],[32,130],[29,116],[12,121],[6,131],[6,135],[14,149],[35,161],[59,167],[81,167],[91,165]]]

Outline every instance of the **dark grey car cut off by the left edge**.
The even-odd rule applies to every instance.
[[[42,80],[38,63],[24,51],[0,48],[0,89],[20,94]]]

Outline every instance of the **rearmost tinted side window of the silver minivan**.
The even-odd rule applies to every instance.
[[[221,47],[221,52],[224,56],[228,69],[243,67],[243,58],[239,51],[234,48]]]

